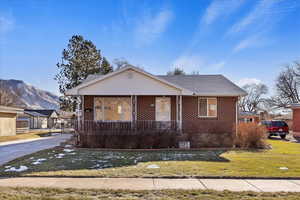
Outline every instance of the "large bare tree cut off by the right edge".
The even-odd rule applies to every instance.
[[[292,103],[299,103],[300,64],[294,62],[279,74],[276,79],[276,94],[267,100],[274,108],[288,108]]]

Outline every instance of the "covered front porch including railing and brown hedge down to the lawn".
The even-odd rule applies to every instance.
[[[181,99],[180,96],[85,95],[82,118],[75,127],[78,142],[80,146],[100,148],[123,145],[131,148],[128,147],[131,144],[133,148],[175,147],[175,138],[181,133]]]

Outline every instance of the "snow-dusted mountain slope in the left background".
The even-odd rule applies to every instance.
[[[30,109],[58,109],[59,98],[51,92],[40,90],[21,80],[0,79],[0,92],[5,90],[14,106]]]

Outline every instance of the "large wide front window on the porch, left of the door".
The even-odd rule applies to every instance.
[[[131,121],[131,98],[96,97],[94,119],[99,121]]]

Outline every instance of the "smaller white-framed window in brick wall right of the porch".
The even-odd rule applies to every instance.
[[[198,99],[199,117],[217,117],[217,98]]]

